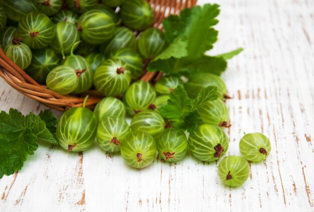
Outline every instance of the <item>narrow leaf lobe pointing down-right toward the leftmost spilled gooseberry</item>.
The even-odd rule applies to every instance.
[[[46,128],[46,123],[34,113],[30,113],[26,117],[27,125],[35,133],[38,140],[49,142],[52,144],[58,144],[53,134]]]

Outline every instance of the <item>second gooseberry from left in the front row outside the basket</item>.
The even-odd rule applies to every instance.
[[[118,152],[120,144],[130,133],[130,127],[123,118],[109,116],[103,118],[98,124],[96,139],[104,151]]]

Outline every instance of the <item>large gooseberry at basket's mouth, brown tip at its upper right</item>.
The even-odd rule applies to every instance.
[[[120,60],[107,59],[102,62],[94,74],[94,86],[104,96],[118,96],[128,88],[131,72]]]

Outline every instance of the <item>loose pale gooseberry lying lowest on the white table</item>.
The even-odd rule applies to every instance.
[[[228,186],[242,185],[250,174],[250,167],[243,157],[230,155],[222,159],[218,165],[218,176]]]

